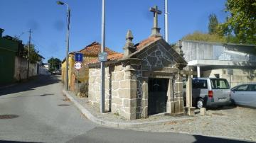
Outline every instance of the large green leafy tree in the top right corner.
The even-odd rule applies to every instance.
[[[219,29],[229,40],[234,40],[228,42],[256,44],[256,1],[227,0],[225,11],[229,16]]]

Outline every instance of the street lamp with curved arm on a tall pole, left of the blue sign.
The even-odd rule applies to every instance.
[[[68,6],[68,4],[62,2],[62,1],[57,1],[57,4],[59,5],[66,5]],[[69,30],[70,30],[70,8],[68,6],[68,13],[67,13],[67,34],[66,34],[66,44],[67,44],[67,48],[66,48],[66,68],[65,68],[65,91],[68,91],[68,50],[69,50]]]

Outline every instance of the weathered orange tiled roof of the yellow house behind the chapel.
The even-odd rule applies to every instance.
[[[100,53],[101,45],[98,42],[92,42],[92,44],[87,45],[85,48],[80,50],[79,52],[83,55],[98,55]],[[108,47],[105,47],[105,51],[107,52],[107,55],[113,55],[117,52],[114,52],[110,50]],[[71,52],[73,54],[75,52]]]

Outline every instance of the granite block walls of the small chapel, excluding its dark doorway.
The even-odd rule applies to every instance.
[[[164,78],[169,80],[167,112],[179,113],[183,110],[183,84],[177,71],[164,71],[164,68],[175,69],[174,57],[161,45],[152,45],[142,52],[138,59],[127,59],[110,64],[105,69],[105,106],[106,109],[121,115],[127,120],[147,118],[148,116],[148,79]],[[152,72],[155,76],[144,74]],[[166,75],[158,75],[164,73]],[[89,69],[89,101],[100,105],[100,68]],[[182,100],[182,101],[181,101]],[[175,110],[174,110],[175,109]]]

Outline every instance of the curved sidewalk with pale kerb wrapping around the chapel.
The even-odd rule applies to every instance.
[[[63,93],[72,101],[77,108],[85,115],[86,118],[95,122],[99,125],[107,127],[118,127],[118,128],[127,128],[127,127],[144,127],[149,125],[162,125],[169,122],[176,122],[178,120],[193,120],[195,118],[207,118],[208,116],[195,115],[193,117],[181,115],[181,116],[171,116],[171,115],[152,115],[146,119],[137,119],[137,120],[126,120],[119,115],[114,113],[100,113],[100,108],[95,108],[90,105],[90,102],[87,98],[80,98],[75,96],[72,91],[64,91]]]

